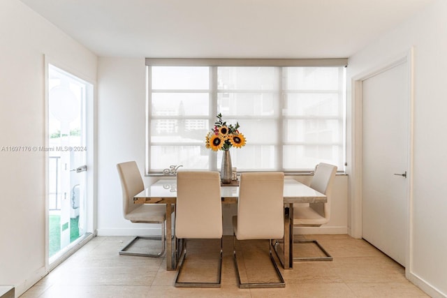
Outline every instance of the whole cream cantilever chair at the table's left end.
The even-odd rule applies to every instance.
[[[145,190],[140,170],[135,161],[118,163],[117,170],[122,186],[123,215],[132,223],[158,223],[161,225],[161,237],[134,237],[129,244],[126,244],[120,255],[138,255],[143,257],[160,257],[165,252],[165,221],[166,207],[163,204],[134,204],[133,197]],[[129,251],[138,240],[161,240],[161,251],[158,253],[142,253]]]

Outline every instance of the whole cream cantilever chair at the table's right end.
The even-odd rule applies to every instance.
[[[307,206],[293,205],[293,227],[319,227],[330,221],[330,202],[332,200],[332,185],[334,184],[337,167],[328,163],[318,163],[314,177],[310,184],[311,188],[323,193],[328,198],[325,203],[312,203]],[[294,239],[295,244],[315,244],[324,256],[298,257],[293,256],[294,261],[331,261],[332,256],[314,239]]]

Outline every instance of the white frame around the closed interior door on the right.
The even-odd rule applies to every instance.
[[[412,247],[412,225],[413,222],[413,102],[414,102],[414,72],[413,72],[413,47],[411,47],[404,54],[383,61],[378,66],[371,68],[360,75],[352,78],[352,173],[351,173],[351,235],[355,238],[362,238],[362,84],[364,80],[369,77],[383,73],[390,68],[393,68],[402,63],[407,64],[408,73],[408,170],[407,170],[407,216],[406,216],[406,253],[405,253],[405,274],[408,278],[411,272],[412,262],[411,255],[413,255]]]

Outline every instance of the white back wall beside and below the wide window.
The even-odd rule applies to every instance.
[[[130,223],[122,215],[122,192],[116,164],[135,160],[145,167],[145,59],[98,60],[98,235],[159,234],[156,225]],[[145,177],[149,186],[156,177]],[[297,177],[309,183],[309,177]],[[322,228],[297,232],[344,234],[347,232],[347,177],[337,176],[332,218]],[[233,234],[235,206],[223,206],[223,230]]]

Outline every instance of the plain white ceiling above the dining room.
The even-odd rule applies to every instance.
[[[346,58],[433,0],[21,0],[102,57]]]

